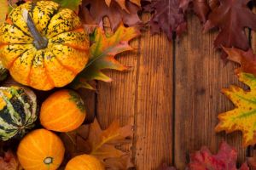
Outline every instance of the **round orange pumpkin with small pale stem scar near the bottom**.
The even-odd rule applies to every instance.
[[[26,170],[55,170],[60,167],[64,152],[64,144],[55,133],[37,129],[20,141],[17,156]]]

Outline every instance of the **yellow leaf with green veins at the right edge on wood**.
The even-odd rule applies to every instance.
[[[256,77],[253,74],[239,72],[239,81],[244,82],[250,90],[236,86],[224,88],[222,92],[234,103],[236,108],[218,115],[219,123],[215,130],[231,133],[240,130],[243,146],[256,144]]]

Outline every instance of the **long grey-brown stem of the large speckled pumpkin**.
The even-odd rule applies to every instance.
[[[26,20],[26,25],[32,33],[32,37],[34,38],[34,46],[37,49],[44,49],[47,48],[48,45],[48,39],[46,37],[42,37],[40,32],[38,31],[37,27],[35,26],[31,15],[28,13],[27,10],[24,10],[23,12],[23,18]]]

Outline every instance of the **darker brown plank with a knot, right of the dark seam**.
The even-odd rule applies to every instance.
[[[238,160],[245,161],[246,149],[241,148],[241,133],[215,133],[218,114],[234,108],[221,94],[231,84],[241,86],[234,75],[234,63],[224,65],[213,48],[217,32],[202,34],[201,24],[189,16],[188,35],[176,43],[175,51],[175,151],[174,163],[184,169],[189,153],[207,145],[213,153],[226,139],[238,150]]]

